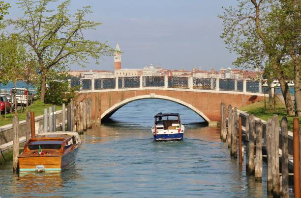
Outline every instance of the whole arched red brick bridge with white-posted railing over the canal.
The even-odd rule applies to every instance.
[[[77,101],[92,99],[95,105],[99,96],[98,115],[102,120],[129,102],[165,99],[186,106],[210,125],[216,125],[221,102],[241,107],[264,99],[260,81],[238,79],[137,76],[81,79],[72,81],[71,86],[79,88]]]

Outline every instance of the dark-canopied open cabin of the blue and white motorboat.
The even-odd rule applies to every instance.
[[[176,130],[181,124],[180,114],[178,113],[158,113],[154,116],[156,129]]]

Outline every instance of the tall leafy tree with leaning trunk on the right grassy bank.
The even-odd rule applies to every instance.
[[[291,61],[288,49],[294,43],[293,36],[288,35],[292,31],[296,32],[294,28],[297,25],[284,30],[283,23],[292,23],[291,17],[283,10],[286,1],[299,0],[239,0],[237,8],[225,8],[219,17],[224,25],[221,38],[227,44],[227,49],[238,54],[234,65],[249,68],[260,66],[271,71],[281,85],[287,114],[293,116],[294,104],[285,81],[285,70]],[[282,11],[275,14],[277,9]],[[296,41],[296,35],[294,37]],[[296,45],[300,45],[300,42]],[[295,77],[295,81],[300,82],[300,73]],[[301,100],[299,103],[301,107]]]

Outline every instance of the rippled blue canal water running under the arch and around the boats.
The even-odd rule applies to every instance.
[[[181,114],[183,141],[153,141],[159,112]],[[138,100],[111,118],[81,135],[75,165],[61,173],[13,174],[11,162],[0,165],[0,197],[268,197],[266,164],[263,180],[255,182],[230,158],[219,129],[186,107]]]

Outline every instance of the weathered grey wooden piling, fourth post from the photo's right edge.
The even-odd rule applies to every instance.
[[[266,150],[267,150],[267,155],[268,155],[268,192],[273,191],[273,184],[272,184],[272,164],[271,164],[271,133],[272,133],[272,128],[271,128],[271,123],[272,119],[268,119],[267,125],[266,125],[266,140],[267,140],[267,145],[266,145]]]

